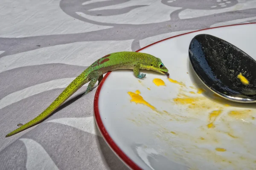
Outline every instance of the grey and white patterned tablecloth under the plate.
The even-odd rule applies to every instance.
[[[0,169],[128,169],[93,118],[96,89],[44,111],[96,59],[203,28],[256,22],[256,0],[3,0],[0,3]],[[234,35],[235,36],[235,35]]]

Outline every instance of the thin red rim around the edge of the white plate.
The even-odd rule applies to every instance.
[[[246,24],[256,24],[256,23],[243,23],[243,24],[233,24],[233,25],[228,25],[228,26],[239,26],[239,25],[246,25]],[[208,30],[208,29],[214,29],[214,28],[221,28],[221,27],[228,27],[228,26],[218,26],[218,27],[213,27],[213,28],[205,28],[205,29],[201,29],[201,30],[196,30],[196,31],[191,31],[191,32],[187,32],[184,34],[179,34],[173,37],[169,37],[157,42],[154,42],[150,45],[147,45],[139,50],[137,50],[136,52],[139,52],[141,50],[143,50],[144,48],[148,48],[151,45],[154,45],[156,43],[174,38],[174,37],[178,37],[178,36],[182,36],[185,34],[191,34],[193,32],[199,32],[199,31],[204,31],[204,30]],[[119,158],[126,164],[128,165],[128,167],[130,167],[133,170],[142,170],[134,161],[132,161],[118,146],[117,144],[113,141],[113,139],[111,138],[111,136],[108,134],[108,131],[105,129],[100,113],[99,113],[99,94],[102,88],[102,85],[104,84],[105,80],[108,78],[109,74],[111,74],[111,71],[108,72],[102,79],[102,82],[99,84],[97,90],[96,90],[96,94],[94,97],[94,116],[95,116],[95,120],[96,120],[96,124],[99,127],[99,131],[102,134],[103,138],[105,139],[105,141],[107,142],[107,144],[112,148],[112,150],[116,153],[117,156],[119,156]]]

